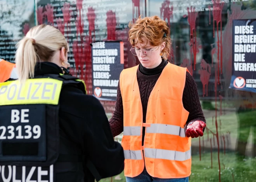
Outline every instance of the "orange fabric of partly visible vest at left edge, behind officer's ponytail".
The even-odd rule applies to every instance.
[[[5,82],[10,78],[10,75],[14,67],[14,63],[10,63],[5,60],[0,61],[0,83]]]

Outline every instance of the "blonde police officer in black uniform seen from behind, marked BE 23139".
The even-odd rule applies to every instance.
[[[63,74],[68,49],[49,25],[19,41],[19,80],[0,83],[0,181],[89,182],[123,171],[104,108]]]

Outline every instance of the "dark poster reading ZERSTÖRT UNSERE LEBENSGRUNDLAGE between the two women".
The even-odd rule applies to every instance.
[[[123,42],[98,41],[91,46],[93,96],[116,101],[119,77],[124,69]]]

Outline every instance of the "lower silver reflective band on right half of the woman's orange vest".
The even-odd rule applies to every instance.
[[[191,150],[180,152],[172,150],[162,150],[154,148],[144,148],[145,157],[148,158],[159,158],[167,160],[178,160],[184,161],[191,158]]]

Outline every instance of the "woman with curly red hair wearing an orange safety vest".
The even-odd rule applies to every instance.
[[[164,20],[139,17],[129,27],[140,64],[122,71],[109,121],[113,136],[123,132],[126,181],[188,182],[191,138],[206,127],[195,81],[166,61],[171,39]]]

